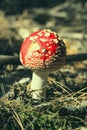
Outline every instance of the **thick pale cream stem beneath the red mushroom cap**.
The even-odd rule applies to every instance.
[[[30,86],[33,99],[40,100],[41,97],[45,98],[48,74],[49,73],[44,70],[37,70],[33,72]]]

